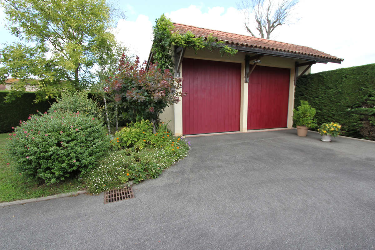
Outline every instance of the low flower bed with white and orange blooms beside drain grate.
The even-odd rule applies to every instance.
[[[85,178],[89,192],[100,193],[119,188],[121,184],[130,180],[138,183],[148,178],[157,178],[164,169],[187,156],[190,141],[172,136],[164,124],[159,125],[155,134],[151,133],[150,126],[148,121],[141,121],[129,127],[129,131],[137,131],[135,135],[144,138],[138,140],[144,147],[139,149],[136,142],[134,147],[113,151],[99,160],[98,166]],[[133,132],[124,133],[129,135]],[[120,144],[126,145],[126,141],[122,142],[121,137],[115,137],[112,142],[115,147],[120,147]]]

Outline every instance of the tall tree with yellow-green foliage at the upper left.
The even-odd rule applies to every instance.
[[[54,96],[58,88],[86,89],[95,66],[113,57],[115,10],[105,0],[1,0],[8,27],[20,39],[1,52],[4,76]],[[31,78],[40,81],[30,81]]]

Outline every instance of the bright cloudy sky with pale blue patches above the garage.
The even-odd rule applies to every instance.
[[[141,61],[147,60],[152,26],[163,13],[172,22],[249,35],[236,1],[117,1],[117,4],[126,11],[127,18],[118,22],[115,35]],[[295,8],[294,24],[276,28],[271,39],[344,58],[341,64],[314,64],[312,73],[375,63],[374,9],[372,0],[301,0]],[[0,33],[1,43],[13,39],[5,28]]]

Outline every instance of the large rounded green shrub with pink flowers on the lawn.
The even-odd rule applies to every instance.
[[[110,146],[101,122],[79,112],[30,115],[10,135],[17,170],[47,184],[89,171]]]

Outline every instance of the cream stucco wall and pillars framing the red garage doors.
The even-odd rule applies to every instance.
[[[195,58],[195,59],[203,59],[203,60],[211,60],[211,61],[227,61],[233,63],[241,63],[241,106],[240,106],[240,132],[247,131],[247,121],[248,121],[248,83],[245,83],[245,55],[248,53],[238,52],[234,56],[221,56],[218,51],[194,51],[192,49],[187,49],[184,54],[184,58]],[[255,54],[248,54],[250,56]],[[287,127],[291,128],[293,125],[293,107],[294,107],[294,66],[296,61],[299,63],[303,63],[303,60],[296,60],[292,58],[284,58],[284,57],[272,57],[272,56],[264,56],[261,59],[261,63],[258,65],[261,66],[269,66],[269,67],[280,67],[280,68],[287,68],[290,69],[290,83],[289,83],[289,100],[288,100],[288,117],[287,119]],[[306,68],[300,67],[299,73],[303,72]],[[310,73],[310,70],[308,72]],[[183,67],[180,67],[180,76],[183,78]],[[183,84],[183,82],[182,82]],[[183,98],[181,98],[181,102],[175,104],[174,106],[168,107],[165,110],[165,114],[160,114],[160,119],[164,122],[173,120],[173,124],[171,124],[171,130],[174,132],[176,136],[182,135],[182,102]]]

